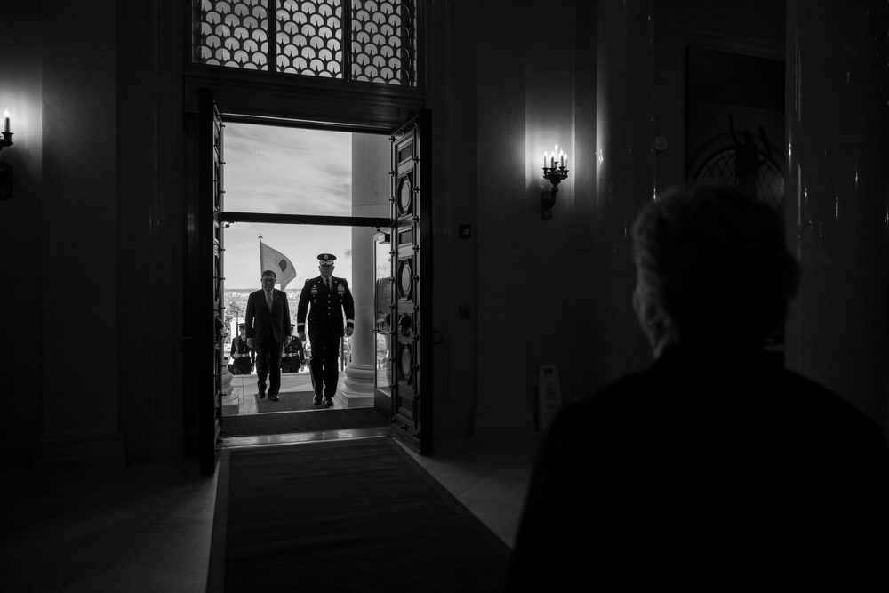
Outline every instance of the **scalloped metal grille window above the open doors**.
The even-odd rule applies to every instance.
[[[347,2],[194,0],[192,60],[266,72],[274,64],[281,74],[416,86],[417,0],[351,0],[344,11]]]

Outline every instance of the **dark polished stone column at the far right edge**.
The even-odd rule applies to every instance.
[[[786,229],[803,280],[786,365],[889,431],[885,2],[787,3]]]

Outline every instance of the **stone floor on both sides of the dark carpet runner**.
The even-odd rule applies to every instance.
[[[312,435],[267,442],[298,437]],[[444,440],[434,455],[412,454],[511,545],[536,440]],[[0,590],[204,591],[216,481],[200,475],[195,459],[89,473],[0,473]]]

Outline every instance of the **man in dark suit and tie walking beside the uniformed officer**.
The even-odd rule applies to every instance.
[[[247,346],[256,351],[260,399],[266,397],[266,377],[269,376],[268,399],[272,401],[278,400],[281,389],[281,348],[291,340],[290,305],[287,293],[276,290],[276,279],[277,275],[270,269],[262,272],[262,290],[250,293],[244,318]]]

